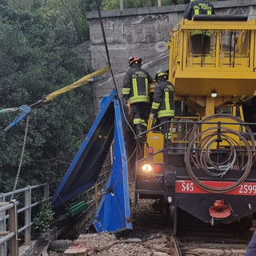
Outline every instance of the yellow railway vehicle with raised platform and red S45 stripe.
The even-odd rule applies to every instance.
[[[191,50],[194,30],[210,34],[209,53]],[[155,199],[174,233],[178,209],[211,225],[248,227],[256,212],[256,124],[243,114],[256,96],[255,32],[244,15],[195,15],[170,34],[171,138],[150,119],[138,142],[134,197]]]

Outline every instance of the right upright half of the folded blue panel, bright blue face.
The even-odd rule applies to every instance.
[[[94,218],[98,232],[117,232],[132,229],[125,142],[122,134],[122,114],[118,101],[114,101],[114,162],[106,185],[109,193],[103,195]]]

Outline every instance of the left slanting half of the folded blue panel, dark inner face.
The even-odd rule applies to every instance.
[[[54,207],[94,185],[114,139],[115,90],[107,97],[54,196]]]

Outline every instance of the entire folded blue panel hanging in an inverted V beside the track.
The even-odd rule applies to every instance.
[[[106,154],[114,140],[114,162],[102,196],[94,226],[98,232],[119,232],[132,229],[128,168],[124,142],[123,112],[113,90],[102,101],[101,111],[87,134],[81,148],[71,162],[53,197],[54,207],[94,185]]]

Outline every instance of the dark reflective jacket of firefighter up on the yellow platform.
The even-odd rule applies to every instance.
[[[194,2],[190,2],[190,4],[186,6],[184,18],[191,20],[194,15],[200,14],[215,14],[214,6],[204,0],[194,0]],[[210,30],[192,30],[191,35],[195,34],[206,34],[206,36],[210,37]]]

